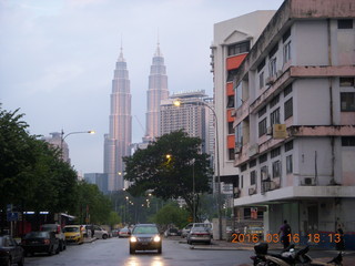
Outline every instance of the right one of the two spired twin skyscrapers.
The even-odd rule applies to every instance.
[[[160,102],[169,96],[168,75],[164,58],[158,43],[151,73],[149,75],[149,89],[146,92],[146,133],[145,141],[153,141],[159,136],[160,129]]]

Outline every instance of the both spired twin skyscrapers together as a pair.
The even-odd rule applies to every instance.
[[[158,43],[149,75],[146,93],[146,132],[144,140],[159,136],[160,102],[169,98],[168,75],[164,58]],[[124,164],[122,157],[131,155],[132,115],[131,89],[126,62],[121,53],[115,64],[112,80],[110,131],[104,135],[103,171],[108,174],[108,190],[119,191],[124,187]]]

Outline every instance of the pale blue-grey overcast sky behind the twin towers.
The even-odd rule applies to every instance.
[[[213,95],[213,24],[283,0],[0,0],[0,103],[20,109],[31,134],[65,141],[80,173],[102,173],[113,70],[128,63],[133,142],[144,135],[146,90],[158,37],[170,93]],[[140,125],[142,124],[142,126]]]

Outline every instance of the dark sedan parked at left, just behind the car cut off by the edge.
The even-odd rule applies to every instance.
[[[59,239],[54,232],[30,232],[23,237],[21,246],[26,255],[33,255],[34,253],[53,255],[53,253],[59,253]]]

